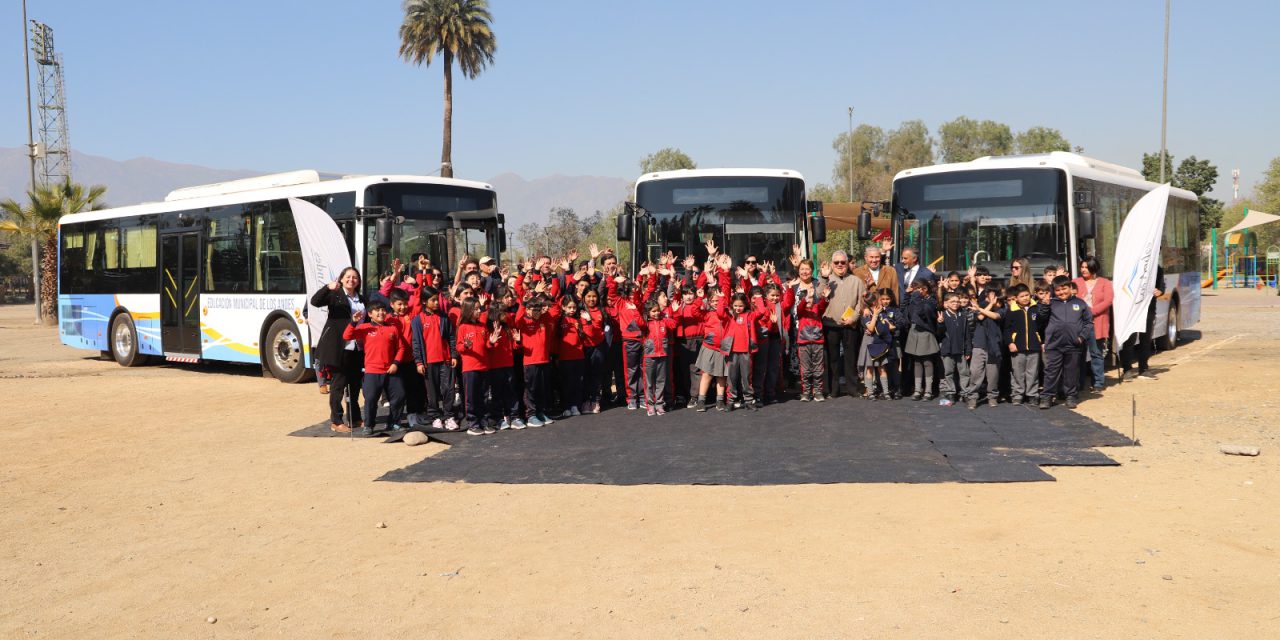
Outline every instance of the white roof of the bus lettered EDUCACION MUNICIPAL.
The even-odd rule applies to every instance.
[[[312,177],[315,177],[315,179],[311,179]],[[438,178],[434,175],[379,174],[346,175],[342,178],[324,179],[319,172],[302,170],[284,174],[260,175],[256,178],[246,178],[243,180],[204,184],[198,187],[184,187],[172,191],[164,202],[143,202],[141,205],[128,205],[114,209],[100,209],[97,211],[64,215],[58,220],[58,224],[106,220],[110,218],[127,218],[133,215],[164,214],[188,209],[256,202],[260,200],[320,196],[344,191],[358,192],[364,191],[366,187],[384,182],[444,184],[493,191],[492,186],[483,182]]]

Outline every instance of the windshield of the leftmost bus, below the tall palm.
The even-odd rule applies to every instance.
[[[481,257],[492,251],[490,236],[497,233],[498,209],[493,191],[452,184],[387,183],[369,188],[367,206],[385,206],[404,216],[396,225],[390,250],[379,248],[374,224],[365,227],[365,280],[376,289],[380,273],[398,257],[408,261],[413,253],[426,253],[431,266],[452,275],[463,255]],[[448,229],[461,227],[451,238]],[[453,246],[451,260],[449,243]]]

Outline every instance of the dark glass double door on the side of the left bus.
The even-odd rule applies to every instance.
[[[160,344],[165,356],[200,355],[200,233],[160,236]]]

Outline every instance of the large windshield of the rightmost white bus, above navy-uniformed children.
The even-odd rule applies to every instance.
[[[1066,260],[1066,177],[1057,169],[986,169],[899,178],[900,242],[934,271],[983,264],[996,278],[1028,257],[1033,269]]]

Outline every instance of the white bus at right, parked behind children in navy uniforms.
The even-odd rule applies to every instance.
[[[1080,260],[1097,256],[1111,278],[1120,225],[1156,187],[1133,169],[1064,151],[909,169],[893,178],[893,241],[941,275],[977,264],[1007,282],[1010,262],[1027,257],[1037,278],[1050,264],[1076,276]],[[1189,191],[1169,196],[1161,262],[1166,291],[1152,338],[1171,349],[1178,332],[1199,321],[1199,207]]]

